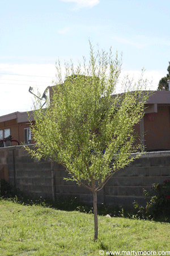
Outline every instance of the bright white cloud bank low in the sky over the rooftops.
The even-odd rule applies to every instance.
[[[120,80],[127,73],[137,81],[141,71],[122,71]],[[159,80],[164,75],[164,71],[146,71],[145,78],[152,80],[150,89],[156,90]],[[55,78],[56,68],[52,64],[12,65],[0,63],[0,116],[17,111],[31,110],[33,96],[28,92],[29,86],[33,87],[35,91],[38,88],[42,94],[47,86],[52,85],[52,80],[55,80]],[[118,84],[117,89],[121,89],[120,84]]]

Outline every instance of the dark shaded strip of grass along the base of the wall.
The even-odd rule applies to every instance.
[[[73,196],[59,196],[56,197],[55,200],[51,199],[34,199],[26,195],[24,192],[19,189],[14,189],[11,187],[9,183],[5,180],[1,180],[1,193],[0,200],[10,200],[15,203],[23,204],[23,205],[41,205],[42,207],[49,207],[58,210],[66,210],[66,211],[79,211],[84,213],[94,213],[93,207],[90,204],[82,203],[78,197]],[[122,208],[118,206],[110,206],[100,204],[97,205],[97,213],[101,216],[108,217],[123,217],[123,218],[131,218],[131,219],[144,219],[144,220],[154,220],[161,222],[170,222],[170,212],[167,216],[162,215],[158,218],[153,218],[152,216],[144,217],[140,212],[132,208]]]

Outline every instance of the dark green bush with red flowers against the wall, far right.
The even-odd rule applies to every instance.
[[[134,201],[134,208],[139,209],[143,218],[153,218],[154,220],[170,219],[170,183],[164,180],[163,184],[152,184],[151,191],[143,189],[143,194],[147,199],[146,207],[140,206]]]

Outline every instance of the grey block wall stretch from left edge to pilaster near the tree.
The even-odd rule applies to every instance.
[[[23,146],[0,148],[0,154],[5,155],[3,163],[12,187],[37,199],[52,198],[52,164],[48,160],[39,162],[31,158]],[[0,160],[0,170],[2,165]]]

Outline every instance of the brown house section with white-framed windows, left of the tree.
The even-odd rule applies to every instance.
[[[29,112],[30,121],[34,121],[32,111]],[[31,144],[31,130],[27,112],[15,112],[0,117],[0,147]],[[4,138],[12,138],[5,139]]]

